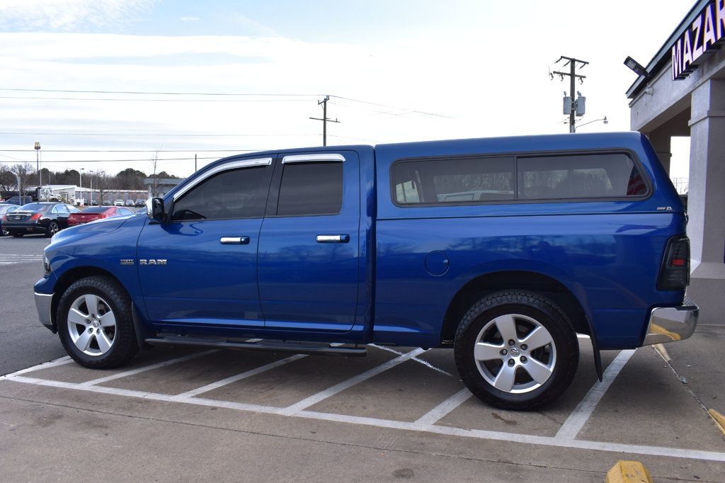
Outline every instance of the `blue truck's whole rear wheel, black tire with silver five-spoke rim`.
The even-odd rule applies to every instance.
[[[512,346],[502,337],[496,318],[504,326],[509,318],[513,322],[516,341]],[[529,350],[523,342],[539,327],[547,331],[539,335],[545,334],[551,342]],[[488,350],[479,354],[486,353],[481,360],[474,357],[477,342],[484,344],[479,349]],[[496,358],[489,359],[494,351]],[[507,410],[534,410],[557,399],[571,384],[579,366],[579,342],[568,317],[554,302],[534,292],[507,290],[489,294],[465,313],[455,335],[455,361],[466,387],[480,400]],[[542,366],[548,379],[539,375],[542,381],[534,380],[529,370]],[[505,377],[498,377],[505,368],[514,379],[508,379],[510,389],[502,390],[494,383],[508,386]]]

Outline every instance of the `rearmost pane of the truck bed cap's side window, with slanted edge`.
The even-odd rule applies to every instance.
[[[610,198],[646,192],[645,181],[624,153],[518,158],[521,199]]]

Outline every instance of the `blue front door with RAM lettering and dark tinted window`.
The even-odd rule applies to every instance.
[[[257,244],[272,158],[237,159],[174,196],[171,220],[146,222],[138,277],[154,323],[263,326]]]

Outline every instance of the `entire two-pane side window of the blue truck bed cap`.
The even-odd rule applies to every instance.
[[[401,161],[393,165],[399,205],[534,199],[596,199],[647,194],[625,153]]]

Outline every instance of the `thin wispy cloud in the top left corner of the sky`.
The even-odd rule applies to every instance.
[[[3,0],[0,27],[18,30],[70,30],[107,25],[144,11],[154,0]]]

